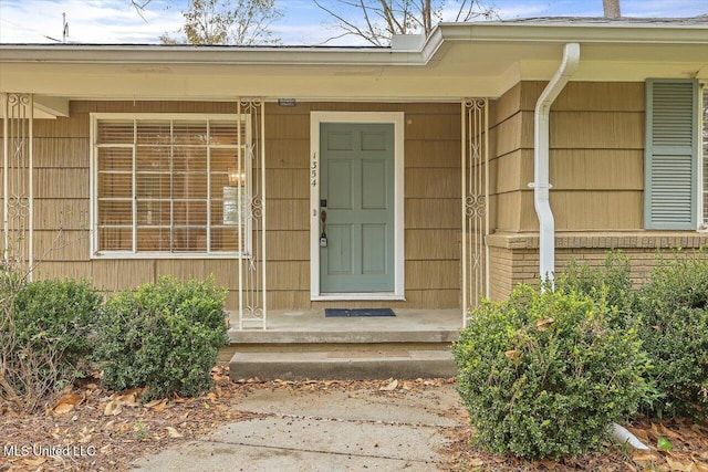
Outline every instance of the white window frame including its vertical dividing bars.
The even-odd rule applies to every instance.
[[[132,176],[132,250],[100,250],[98,249],[98,238],[100,238],[100,218],[98,218],[98,149],[102,146],[97,143],[98,139],[98,126],[100,122],[103,120],[133,120],[134,124],[134,140],[132,145],[133,149],[133,166],[131,170]],[[251,129],[251,116],[249,114],[241,114],[240,116],[237,113],[231,114],[211,114],[211,113],[91,113],[90,114],[90,224],[91,224],[91,237],[90,237],[90,247],[91,247],[91,259],[96,260],[105,260],[105,259],[249,259],[252,252],[252,222],[248,216],[243,218],[243,228],[239,228],[238,224],[233,225],[235,231],[240,231],[242,237],[244,238],[243,248],[244,251],[215,251],[210,250],[210,229],[214,227],[214,222],[211,221],[211,203],[212,199],[217,199],[218,197],[211,196],[208,190],[207,193],[207,222],[205,228],[207,229],[207,251],[194,251],[194,252],[166,252],[166,251],[138,251],[137,250],[137,227],[138,219],[136,213],[136,153],[137,153],[137,139],[135,136],[135,126],[139,120],[163,120],[170,122],[170,127],[174,126],[175,122],[180,120],[204,120],[207,122],[232,122],[233,126],[242,127],[244,129],[246,141],[240,144],[240,158],[243,160],[243,168],[246,172],[246,201],[242,201],[242,204],[246,204],[250,198],[252,197],[252,162],[251,159],[248,159],[248,151],[250,145],[252,145],[252,129]],[[129,147],[126,145],[121,145],[124,147]],[[233,150],[239,155],[239,145],[222,145],[222,148],[232,147]],[[211,186],[211,149],[215,147],[214,145],[207,145],[207,189],[210,189]],[[170,176],[174,178],[174,171],[170,172]],[[175,197],[170,196],[170,201],[175,201]],[[238,203],[237,203],[238,206]],[[170,227],[174,227],[174,221],[170,221]]]

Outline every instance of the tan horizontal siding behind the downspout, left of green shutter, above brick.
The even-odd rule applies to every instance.
[[[545,83],[500,97],[492,119],[497,231],[538,230],[533,109]],[[571,82],[551,108],[551,208],[559,230],[643,228],[644,84]]]

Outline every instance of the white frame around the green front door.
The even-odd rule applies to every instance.
[[[394,291],[321,293],[320,291],[320,125],[322,123],[386,123],[394,125]],[[311,112],[310,114],[310,300],[405,300],[403,112]]]

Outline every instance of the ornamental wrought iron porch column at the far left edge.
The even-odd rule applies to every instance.
[[[33,96],[2,94],[3,259],[31,277],[33,253]]]

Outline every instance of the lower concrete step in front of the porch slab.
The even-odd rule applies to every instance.
[[[457,375],[449,349],[237,350],[229,366],[235,380],[415,379]]]

